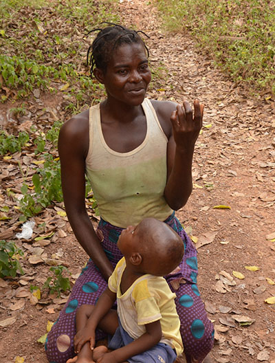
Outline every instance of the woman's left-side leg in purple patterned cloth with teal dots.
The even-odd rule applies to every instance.
[[[72,294],[47,336],[45,351],[50,363],[65,363],[73,358],[76,334],[76,311],[83,304],[96,305],[96,300],[106,289],[107,283],[92,261],[89,261],[78,277]],[[104,334],[97,332],[97,339]]]

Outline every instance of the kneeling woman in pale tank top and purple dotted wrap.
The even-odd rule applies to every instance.
[[[135,31],[120,25],[100,30],[91,45],[91,73],[104,85],[107,98],[66,122],[59,135],[67,217],[91,259],[48,335],[50,362],[74,356],[76,309],[96,304],[122,256],[116,246],[120,232],[145,217],[165,221],[184,241],[184,259],[166,280],[177,294],[188,362],[202,362],[212,348],[212,323],[196,285],[196,250],[173,212],[192,192],[192,156],[203,105],[194,102],[193,116],[188,102],[182,107],[146,99],[151,81],[146,50]],[[100,210],[97,232],[85,208],[85,174]]]

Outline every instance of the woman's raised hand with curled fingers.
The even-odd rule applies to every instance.
[[[184,105],[177,105],[177,111],[173,111],[170,117],[173,127],[173,137],[179,150],[189,151],[194,148],[202,126],[203,104],[194,101],[194,115],[190,104],[184,101]]]

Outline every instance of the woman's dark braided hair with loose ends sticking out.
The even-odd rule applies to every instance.
[[[91,76],[93,76],[95,67],[106,72],[111,54],[122,44],[142,43],[146,49],[147,56],[149,56],[148,48],[138,33],[142,33],[148,37],[147,34],[141,30],[136,32],[135,30],[124,28],[122,25],[114,23],[107,24],[109,26],[106,28],[91,30],[91,32],[98,31],[96,39],[94,39],[93,43],[89,46],[87,52],[87,64],[90,67]]]

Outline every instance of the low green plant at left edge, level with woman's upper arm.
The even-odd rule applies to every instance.
[[[21,148],[30,140],[28,133],[20,132],[18,136],[9,135],[0,131],[0,155],[21,151]]]

